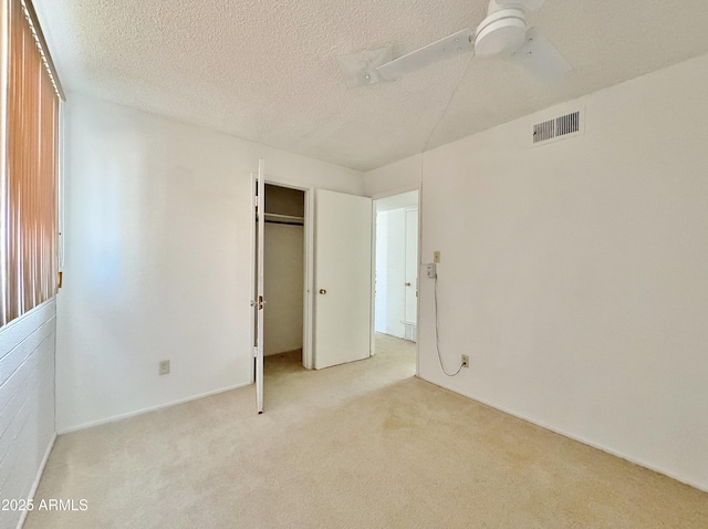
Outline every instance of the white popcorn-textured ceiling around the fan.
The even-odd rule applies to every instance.
[[[531,22],[574,66],[558,86],[462,55],[350,90],[337,55],[407,53],[475,28],[487,0],[34,4],[65,89],[356,169],[708,53],[707,0],[548,0]]]

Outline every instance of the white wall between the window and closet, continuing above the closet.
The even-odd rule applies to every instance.
[[[351,194],[361,173],[79,94],[66,135],[58,429],[247,384],[259,156]]]

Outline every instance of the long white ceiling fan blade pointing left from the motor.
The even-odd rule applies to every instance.
[[[382,64],[376,69],[376,72],[382,79],[393,81],[406,73],[420,70],[421,68],[448,56],[470,52],[475,49],[475,43],[470,42],[470,37],[472,34],[472,30],[469,29],[458,31],[457,33],[446,37],[445,39],[440,39],[433,44],[428,44],[427,46],[420,48],[407,55],[399,56],[386,64]]]

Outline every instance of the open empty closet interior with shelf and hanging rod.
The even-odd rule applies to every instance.
[[[264,198],[263,354],[302,362],[305,194],[266,184]]]

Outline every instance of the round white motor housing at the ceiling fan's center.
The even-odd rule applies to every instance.
[[[502,9],[491,13],[477,28],[475,54],[482,58],[510,55],[523,45],[525,38],[525,12],[518,8]]]

